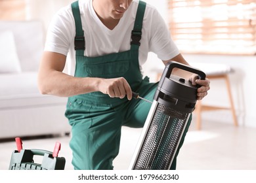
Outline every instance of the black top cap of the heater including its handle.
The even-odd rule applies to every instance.
[[[195,73],[198,75],[198,78],[205,79],[205,73],[199,69],[177,63],[176,61],[170,61],[165,66],[158,89],[154,95],[154,100],[168,107],[191,112],[196,105],[197,90],[200,86],[192,85],[192,82],[189,80],[171,75],[174,68]]]

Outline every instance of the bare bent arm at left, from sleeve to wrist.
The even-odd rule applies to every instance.
[[[39,91],[45,95],[70,97],[98,91],[100,78],[78,78],[62,73],[66,56],[54,52],[44,52],[37,83]]]

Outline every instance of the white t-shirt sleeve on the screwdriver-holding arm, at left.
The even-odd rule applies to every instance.
[[[74,18],[68,10],[59,10],[51,20],[47,30],[45,51],[56,52],[67,56],[74,34]]]

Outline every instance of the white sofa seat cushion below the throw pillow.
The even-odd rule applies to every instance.
[[[0,109],[65,105],[66,101],[66,97],[39,93],[36,72],[0,75]]]

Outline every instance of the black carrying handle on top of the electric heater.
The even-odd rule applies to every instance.
[[[163,83],[163,80],[165,78],[169,78],[171,76],[171,72],[173,71],[174,68],[178,68],[184,71],[188,71],[190,73],[198,74],[198,77],[201,80],[205,80],[206,76],[205,76],[205,73],[203,73],[203,71],[200,71],[199,69],[196,69],[188,65],[184,65],[182,63],[178,63],[177,61],[169,61],[167,65],[165,65],[165,69],[163,70],[163,75],[161,76],[161,79],[160,79],[160,85]]]

